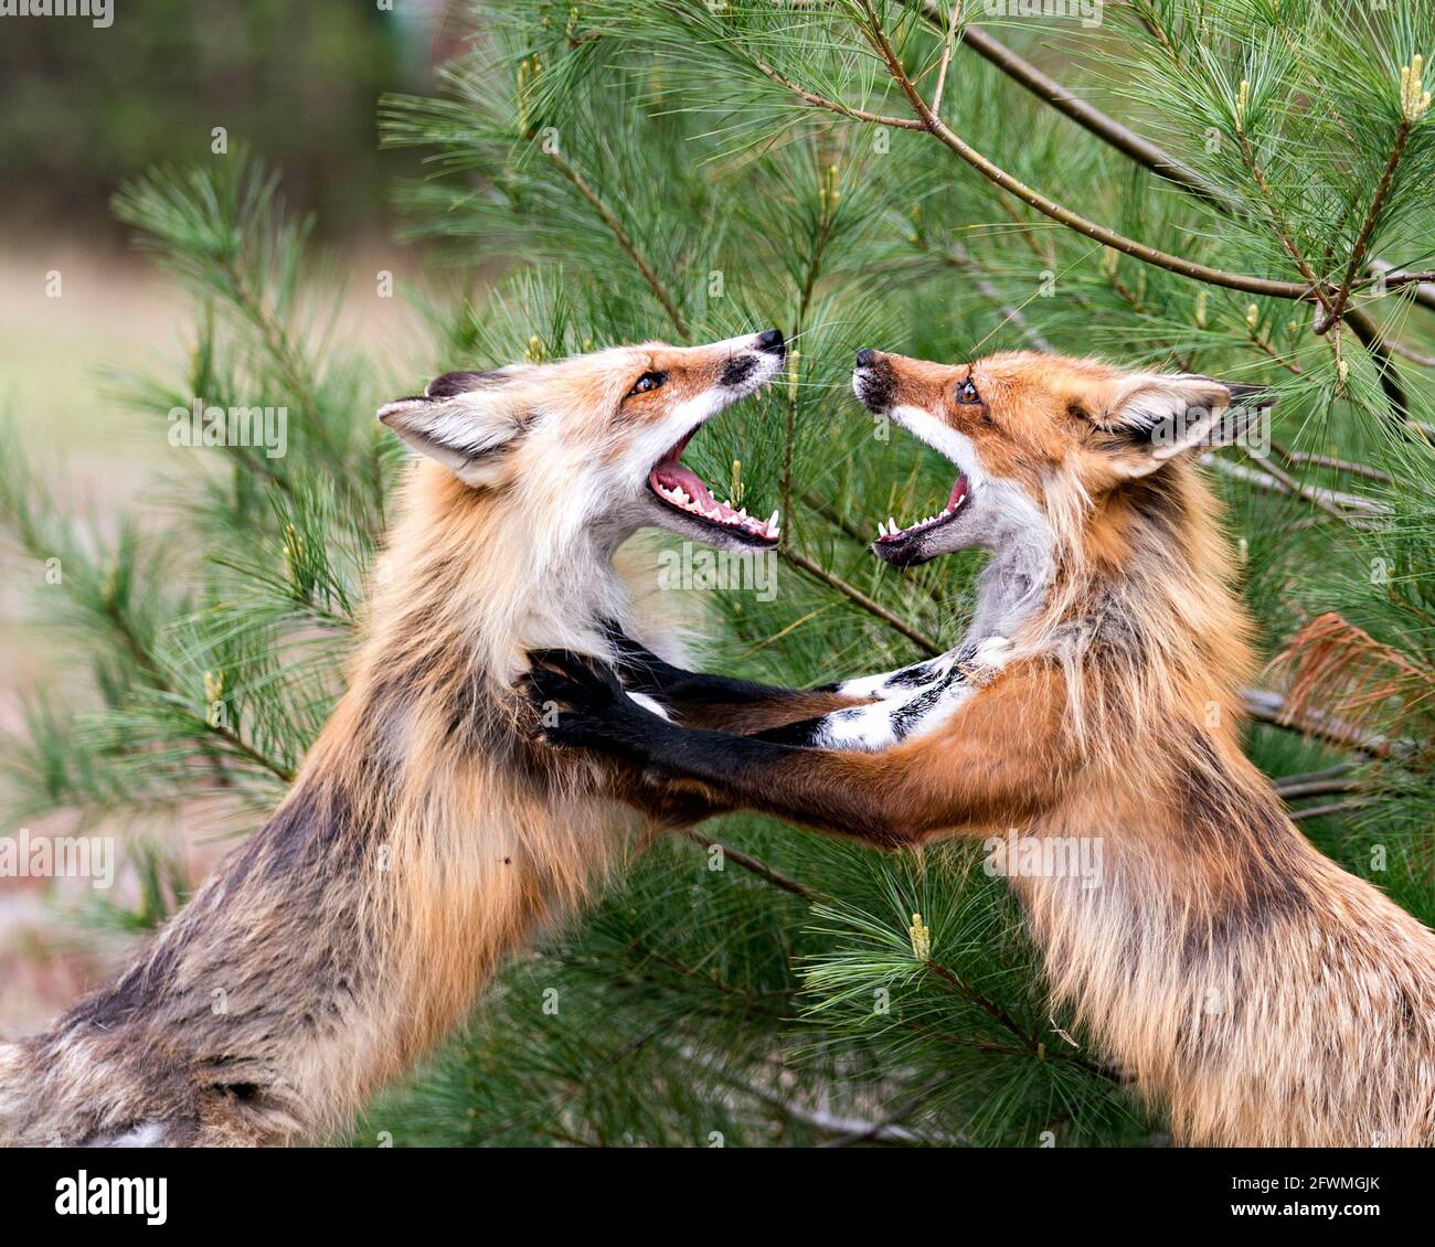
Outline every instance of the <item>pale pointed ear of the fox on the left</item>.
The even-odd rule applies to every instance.
[[[525,372],[519,367],[443,373],[420,396],[382,406],[379,419],[461,481],[488,485],[528,426],[527,403],[514,385]]]

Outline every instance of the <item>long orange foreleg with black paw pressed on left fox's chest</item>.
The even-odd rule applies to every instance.
[[[683,729],[588,660],[552,667],[530,677],[532,695],[560,707],[544,733],[551,743],[621,756],[699,781],[723,804],[885,847],[1023,822],[1056,801],[1076,766],[1060,679],[1030,664],[980,689],[940,735],[883,753]]]

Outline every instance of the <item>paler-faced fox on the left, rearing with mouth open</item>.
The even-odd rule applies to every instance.
[[[778,330],[649,343],[449,373],[380,410],[425,459],[346,696],[268,824],[141,959],[47,1035],[0,1045],[0,1141],[320,1137],[633,844],[641,819],[620,798],[670,824],[706,812],[537,750],[512,686],[527,649],[634,644],[633,585],[613,567],[634,530],[778,540],[776,515],[716,502],[682,452],[784,350]],[[851,702],[745,693],[742,715],[761,728]],[[706,722],[732,726],[720,709]]]

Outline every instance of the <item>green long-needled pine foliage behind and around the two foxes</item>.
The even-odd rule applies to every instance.
[[[1213,465],[1266,656],[1339,611],[1415,674],[1362,725],[1401,742],[1392,756],[1269,723],[1250,749],[1273,776],[1322,773],[1293,808],[1335,809],[1302,827],[1435,920],[1435,317],[1413,283],[1376,280],[1376,261],[1435,267],[1432,122],[1411,73],[1435,50],[1435,14],[1135,0],[1106,6],[1098,30],[983,22],[1048,66],[1055,43],[1052,72],[1158,143],[1172,181],[956,46],[943,4],[474,7],[479,37],[442,95],[382,109],[386,141],[432,169],[406,194],[409,228],[459,264],[507,261],[494,288],[428,309],[435,369],[765,324],[794,339],[788,376],[687,456],[716,482],[736,461],[748,508],[785,517],[771,601],[693,594],[706,666],[801,684],[960,636],[977,555],[897,574],[867,552],[878,519],[930,512],[950,469],[855,405],[857,347],[959,360],[1035,346],[1269,385],[1270,453]],[[938,79],[950,132],[1026,199],[1236,278],[1108,247],[897,123],[916,115],[908,86],[930,102]],[[62,560],[62,621],[93,667],[82,710],[40,700],[7,742],[10,788],[24,811],[141,819],[205,795],[217,825],[243,829],[342,684],[400,459],[369,413],[416,379],[370,376],[324,336],[306,230],[258,164],[159,172],[116,211],[195,296],[191,357],[172,377],[128,379],[128,399],[287,402],[291,445],[274,461],[227,451],[224,471],[171,482],[182,551],[132,528],[95,537],[6,461],[0,514],[33,558]],[[1314,281],[1322,306],[1246,278]],[[146,905],[169,894],[151,887]],[[880,855],[748,815],[651,845],[353,1135],[1164,1139],[1159,1111],[1046,1003],[979,847]]]

